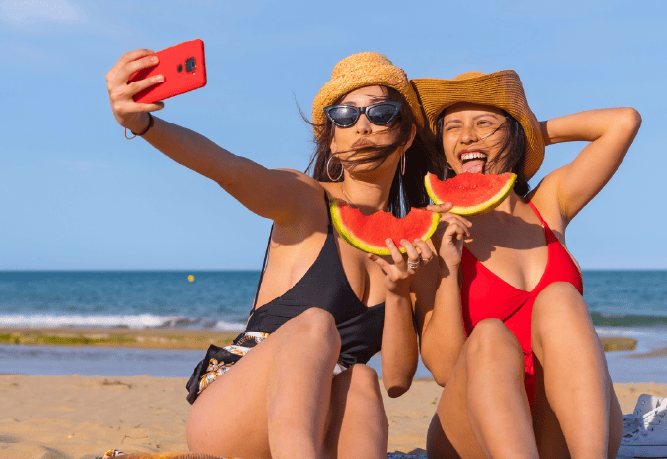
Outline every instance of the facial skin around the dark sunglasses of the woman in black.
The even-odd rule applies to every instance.
[[[368,107],[369,105],[388,100],[387,95],[388,91],[383,86],[365,86],[348,93],[337,103],[337,105]],[[400,117],[397,117],[395,121],[392,121],[388,125],[377,125],[371,123],[365,114],[361,114],[359,120],[350,127],[334,127],[333,138],[331,139],[330,144],[331,152],[336,155],[339,160],[345,161],[355,154],[358,155],[355,150],[391,145],[397,142],[400,137],[400,129],[397,129],[398,126],[396,123],[400,123]],[[409,144],[410,142],[403,148],[397,149],[397,154],[392,155],[396,157],[394,160],[384,161],[382,164],[389,163],[387,164],[387,167],[395,168],[400,153],[402,153],[403,149],[407,148]],[[380,166],[377,164],[359,164],[355,166],[355,170],[361,170],[363,168],[372,169]]]

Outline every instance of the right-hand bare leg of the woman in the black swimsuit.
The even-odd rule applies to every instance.
[[[387,415],[377,373],[357,364],[334,377],[327,458],[386,459]]]

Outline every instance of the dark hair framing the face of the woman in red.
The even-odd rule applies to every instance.
[[[436,149],[438,150],[438,154],[445,158],[445,162],[447,158],[445,156],[445,147],[442,144],[442,134],[446,111],[444,110],[440,114],[436,123]],[[521,123],[514,119],[512,115],[505,110],[502,110],[502,113],[505,116],[505,122],[497,128],[505,131],[504,139],[500,145],[501,153],[488,164],[500,165],[500,173],[514,172],[516,174],[514,191],[520,196],[526,196],[528,191],[530,191],[530,185],[528,185],[528,180],[524,172],[526,164],[526,134]],[[454,171],[449,168],[448,164],[445,164],[444,173],[440,178],[447,179],[454,175],[456,175]]]

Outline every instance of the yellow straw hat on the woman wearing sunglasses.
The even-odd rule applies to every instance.
[[[336,64],[331,72],[331,81],[322,86],[313,101],[313,123],[324,125],[324,107],[332,105],[341,96],[364,86],[375,85],[388,86],[401,93],[417,123],[424,126],[419,99],[405,72],[379,53],[353,54]],[[319,132],[316,127],[315,134]]]

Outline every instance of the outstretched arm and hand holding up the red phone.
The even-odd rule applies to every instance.
[[[162,102],[138,104],[132,99],[142,89],[159,83],[160,76],[127,83],[137,70],[155,65],[156,58],[146,57],[151,53],[140,49],[123,55],[106,76],[113,115],[121,126],[133,132],[143,132],[149,124],[148,112],[164,107]],[[177,163],[217,182],[262,217],[289,221],[302,214],[299,209],[305,204],[304,197],[321,197],[313,193],[316,182],[301,172],[267,169],[194,131],[159,118],[154,118],[154,125],[142,137]]]

